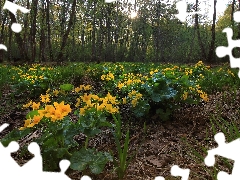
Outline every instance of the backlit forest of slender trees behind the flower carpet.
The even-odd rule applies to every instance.
[[[213,0],[210,21],[206,13],[185,23],[175,17],[177,1],[10,1],[31,11],[15,17],[0,2],[0,43],[8,47],[8,52],[0,51],[0,62],[226,62],[215,55],[217,46],[227,46],[222,30],[232,27],[233,39],[240,37],[240,25],[233,20],[236,0],[220,17]],[[201,3],[188,4],[188,12],[202,10]],[[23,26],[21,33],[10,28],[16,21]],[[239,50],[233,51],[238,57]]]

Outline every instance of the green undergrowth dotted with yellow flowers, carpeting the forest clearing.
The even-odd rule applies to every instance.
[[[208,102],[209,94],[240,84],[236,70],[227,65],[211,68],[202,61],[194,65],[70,63],[0,68],[0,83],[12,88],[12,97],[25,98],[18,106],[28,112],[22,127],[1,140],[5,146],[38,130],[40,136],[33,140],[41,146],[46,170],[57,170],[58,162],[66,158],[73,170],[99,174],[111,162],[119,179],[134,157],[128,154],[130,132],[121,132],[120,125],[126,123],[121,114],[134,119],[157,115],[155,121],[168,121],[181,104]],[[104,128],[111,130],[115,150],[101,152],[89,146]],[[79,144],[74,136],[80,133],[85,140]]]

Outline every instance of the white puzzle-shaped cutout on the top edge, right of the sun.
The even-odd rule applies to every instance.
[[[179,1],[176,3],[176,8],[178,10],[178,14],[175,16],[181,21],[185,22],[187,16],[194,15],[194,14],[201,14],[203,12],[201,11],[196,11],[196,12],[187,12],[187,2],[186,1]]]

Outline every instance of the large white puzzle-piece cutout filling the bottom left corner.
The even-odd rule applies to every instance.
[[[9,124],[5,123],[0,126],[2,132]],[[32,142],[28,146],[28,151],[34,155],[34,158],[29,160],[22,167],[11,157],[11,153],[17,152],[19,145],[12,141],[7,147],[0,143],[0,178],[4,179],[20,179],[20,180],[71,180],[66,174],[66,170],[70,166],[68,160],[61,160],[59,167],[60,172],[43,172],[42,156],[40,147],[36,142]],[[91,180],[89,176],[83,176],[81,180]]]

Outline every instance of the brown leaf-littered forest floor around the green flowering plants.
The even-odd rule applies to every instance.
[[[20,111],[11,102],[9,91],[3,93],[0,108],[0,124],[7,122],[10,124],[1,134],[0,138],[14,128],[19,128],[23,124],[25,112]],[[209,95],[209,102],[202,102],[199,105],[183,105],[181,109],[174,112],[172,120],[167,122],[157,121],[156,116],[149,119],[138,119],[134,123],[129,123],[124,128],[130,129],[129,153],[136,151],[136,156],[131,161],[124,179],[154,179],[156,176],[163,176],[165,179],[174,178],[170,174],[172,165],[179,165],[181,168],[189,168],[190,179],[211,179],[211,175],[206,171],[204,162],[194,156],[195,149],[202,157],[206,156],[201,149],[207,150],[217,147],[213,138],[211,116],[222,118],[226,121],[239,121],[240,89],[236,94],[236,99],[232,101],[232,92],[225,92]],[[23,103],[24,100],[15,99],[16,104]],[[4,109],[4,111],[3,111]],[[74,117],[73,117],[74,118]],[[143,133],[143,122],[147,122],[147,133]],[[131,122],[133,122],[131,120]],[[126,123],[127,124],[127,123]],[[28,136],[29,137],[29,136]],[[81,141],[81,135],[76,137]],[[184,141],[184,139],[186,141]],[[29,139],[28,139],[29,141]],[[187,144],[190,145],[188,147]],[[109,130],[102,131],[96,138],[90,141],[90,146],[98,150],[109,151],[115,149],[114,139]],[[15,159],[23,164],[27,160]],[[221,166],[221,164],[220,164]],[[204,168],[205,167],[205,168]],[[222,167],[225,171],[229,168]],[[87,173],[87,172],[86,172]],[[80,179],[82,174],[77,171],[67,171],[68,176],[75,180]],[[92,179],[117,179],[113,172],[113,164],[107,164],[105,170],[100,175],[88,174]]]

